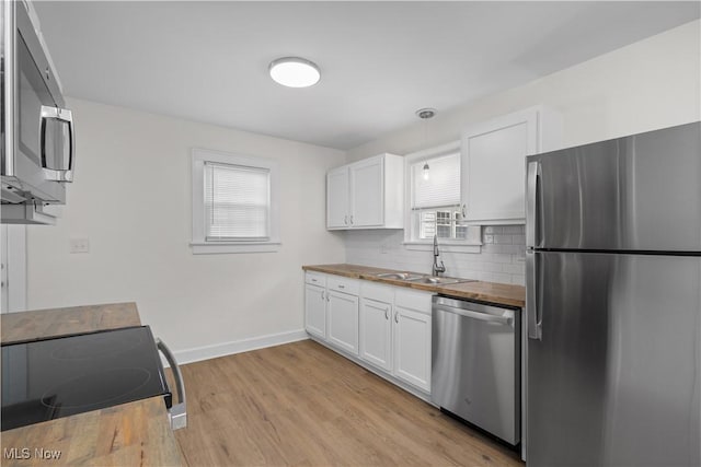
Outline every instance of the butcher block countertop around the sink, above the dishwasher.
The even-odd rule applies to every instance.
[[[526,288],[521,285],[512,285],[495,282],[460,282],[455,284],[425,284],[409,282],[399,279],[378,278],[378,273],[382,272],[411,272],[405,270],[393,270],[372,268],[369,266],[358,265],[313,265],[302,266],[306,271],[325,272],[329,275],[344,276],[354,279],[364,279],[375,282],[383,282],[391,285],[407,287],[427,292],[440,293],[459,299],[478,300],[481,302],[494,303],[497,305],[517,306],[522,308],[526,306]],[[421,273],[421,272],[415,272]]]

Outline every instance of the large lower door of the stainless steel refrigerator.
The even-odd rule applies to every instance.
[[[701,257],[533,255],[528,467],[701,465]]]

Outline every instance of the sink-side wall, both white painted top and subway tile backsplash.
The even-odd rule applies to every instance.
[[[428,122],[393,131],[348,151],[348,162],[381,152],[407,154],[460,138],[470,124],[532,105],[560,113],[562,147],[701,119],[700,21],[594,58],[531,83],[450,110]],[[430,105],[430,103],[426,103]],[[441,112],[443,110],[443,112]],[[491,282],[524,283],[522,226],[483,229],[482,253],[446,253],[447,273]],[[346,260],[427,272],[433,256],[405,249],[399,232],[346,234]]]

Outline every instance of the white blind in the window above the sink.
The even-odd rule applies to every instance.
[[[424,164],[428,163],[428,179]],[[460,154],[448,154],[412,165],[412,209],[460,203]]]

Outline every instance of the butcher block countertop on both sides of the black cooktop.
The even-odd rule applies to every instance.
[[[136,303],[8,313],[0,319],[3,345],[141,325]],[[162,397],[3,431],[0,441],[3,466],[184,464]],[[47,458],[51,453],[60,454]]]

